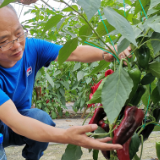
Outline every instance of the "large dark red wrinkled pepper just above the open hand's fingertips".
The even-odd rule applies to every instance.
[[[113,143],[123,145],[142,124],[144,112],[135,106],[127,106],[124,111],[124,118],[114,131]]]

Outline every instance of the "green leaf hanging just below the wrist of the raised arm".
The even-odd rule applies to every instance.
[[[102,71],[103,69],[107,68],[109,66],[109,62],[106,62],[105,60],[100,61],[99,65],[93,69],[93,71],[89,75],[97,74],[98,72]]]

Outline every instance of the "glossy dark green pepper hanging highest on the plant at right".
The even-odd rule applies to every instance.
[[[137,57],[138,65],[143,69],[147,69],[149,59],[150,59],[149,48],[146,45],[143,45],[138,50],[136,50],[134,53]]]

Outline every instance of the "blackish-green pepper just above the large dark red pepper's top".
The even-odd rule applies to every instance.
[[[131,99],[131,104],[137,106],[143,96],[143,94],[145,93],[146,88],[143,85],[139,85],[138,89],[135,93],[135,95],[133,96],[133,98]]]

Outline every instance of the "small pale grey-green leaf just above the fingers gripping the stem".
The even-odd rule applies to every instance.
[[[129,45],[130,42],[126,38],[121,37],[118,43],[118,54],[123,52]]]

